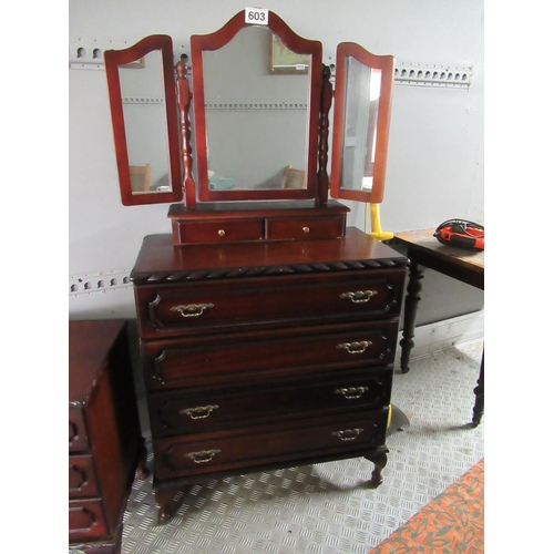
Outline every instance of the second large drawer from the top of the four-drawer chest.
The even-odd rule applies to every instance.
[[[322,369],[392,363],[397,321],[291,329],[288,334],[230,335],[214,339],[142,341],[150,390],[236,382],[237,377],[277,377]],[[263,375],[260,372],[264,372]]]

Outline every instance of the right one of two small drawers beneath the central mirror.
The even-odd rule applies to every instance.
[[[346,217],[269,217],[266,237],[270,240],[295,238],[337,238],[345,236]]]

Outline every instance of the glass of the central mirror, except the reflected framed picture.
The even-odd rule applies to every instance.
[[[212,191],[306,187],[309,76],[271,73],[271,39],[246,27],[203,52]]]

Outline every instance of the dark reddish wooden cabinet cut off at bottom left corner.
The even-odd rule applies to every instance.
[[[135,469],[147,474],[126,325],[69,324],[70,551],[120,552]]]

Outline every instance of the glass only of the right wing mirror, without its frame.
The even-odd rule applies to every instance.
[[[377,121],[381,93],[381,70],[346,58],[345,119],[341,187],[371,192],[376,161]]]

